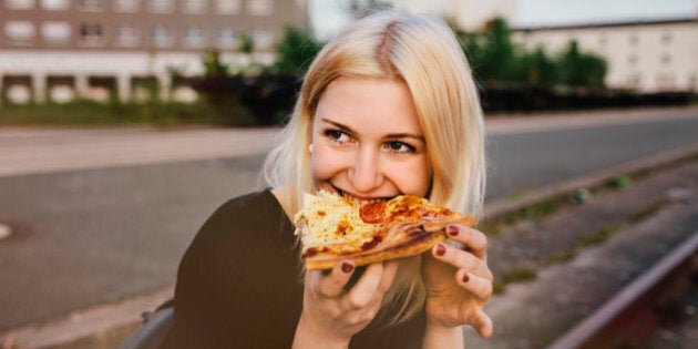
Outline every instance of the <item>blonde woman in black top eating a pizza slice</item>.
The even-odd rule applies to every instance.
[[[449,236],[460,245],[365,269],[343,260],[304,273],[289,218],[299,194],[318,189],[357,202],[412,194],[479,214],[478,101],[442,22],[384,12],[347,28],[311,64],[267,157],[273,189],[223,205],[187,249],[168,347],[458,348],[462,325],[490,337],[482,233],[452,224]]]

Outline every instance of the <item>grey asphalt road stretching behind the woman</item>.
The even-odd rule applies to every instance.
[[[489,122],[489,199],[698,142],[698,109],[637,114]],[[595,121],[575,122],[587,119]],[[255,187],[265,146],[275,135],[261,132],[246,140],[236,133],[240,143],[227,146],[248,145],[239,154],[196,154],[189,146],[175,147],[183,141],[173,136],[177,140],[161,155],[144,156],[142,148],[123,144],[151,140],[153,132],[135,132],[141,135],[115,151],[90,144],[132,132],[69,137],[86,137],[82,147],[100,150],[86,153],[52,151],[62,145],[51,132],[29,138],[13,132],[6,138],[0,132],[0,168],[9,168],[2,152],[23,163],[6,174],[0,170],[0,222],[13,228],[0,240],[0,332],[172,285],[204,219],[227,198]],[[192,133],[211,142],[229,138],[213,130],[173,135]],[[261,146],[249,147],[255,140]],[[8,151],[12,144],[18,148]],[[20,156],[20,148],[30,146],[28,154],[43,155]],[[188,155],[176,155],[182,153]],[[105,161],[116,155],[123,156]]]

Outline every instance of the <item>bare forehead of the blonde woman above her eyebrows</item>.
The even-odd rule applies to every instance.
[[[422,134],[412,95],[401,80],[338,78],[318,101],[315,123],[322,120],[357,130]]]

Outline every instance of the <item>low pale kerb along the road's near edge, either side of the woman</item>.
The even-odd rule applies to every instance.
[[[697,154],[698,143],[540,187],[521,198],[495,199],[485,205],[484,219],[492,219],[535,203],[569,195],[579,188],[603,185],[622,174],[636,174],[658,168]],[[140,316],[142,312],[155,309],[173,295],[174,286],[170,286],[120,304],[95,306],[41,325],[10,329],[0,333],[0,348],[114,348],[140,328],[143,322]]]

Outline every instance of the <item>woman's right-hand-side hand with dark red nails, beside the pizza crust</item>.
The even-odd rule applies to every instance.
[[[422,275],[429,325],[442,328],[471,325],[480,336],[489,338],[492,320],[483,311],[492,297],[493,279],[487,267],[487,238],[460,224],[450,225],[446,232],[464,247],[437,244],[431,254],[424,255]]]

